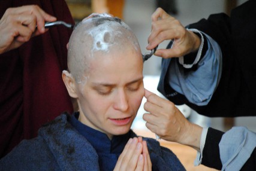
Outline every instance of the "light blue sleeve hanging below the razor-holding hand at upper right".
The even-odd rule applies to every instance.
[[[219,84],[222,71],[221,48],[210,36],[205,33],[203,34],[207,38],[204,41],[207,41],[208,50],[198,62],[197,70],[184,72],[184,68],[189,67],[179,65],[176,61],[178,59],[173,58],[171,59],[167,74],[170,86],[178,93],[186,96],[189,102],[198,106],[207,105],[209,103]],[[198,50],[199,52],[201,52],[203,48],[203,36],[201,36],[201,38],[202,41],[200,49]],[[195,60],[198,60],[198,56],[200,55],[201,53],[198,53]],[[182,59],[179,59],[179,63],[182,64]]]

